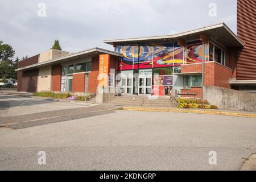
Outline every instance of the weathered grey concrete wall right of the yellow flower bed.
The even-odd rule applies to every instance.
[[[256,111],[256,94],[217,86],[204,86],[203,99],[220,109]]]

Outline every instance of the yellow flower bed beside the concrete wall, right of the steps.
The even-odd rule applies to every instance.
[[[179,109],[218,109],[217,106],[210,105],[208,101],[199,99],[178,98],[177,104]]]

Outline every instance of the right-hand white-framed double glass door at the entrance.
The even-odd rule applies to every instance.
[[[139,77],[139,94],[151,95],[152,93],[152,77],[140,76]]]

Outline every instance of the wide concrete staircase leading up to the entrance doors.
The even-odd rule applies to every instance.
[[[176,107],[174,97],[119,96],[109,102],[111,105],[136,107]]]

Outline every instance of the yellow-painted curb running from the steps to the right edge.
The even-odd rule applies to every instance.
[[[123,107],[123,110],[135,111],[154,111],[154,112],[172,112],[172,113],[195,113],[195,114],[214,114],[228,115],[234,117],[256,118],[256,114],[232,113],[227,111],[205,111],[205,110],[189,110],[189,109],[157,109],[157,108],[142,108],[142,107]]]

